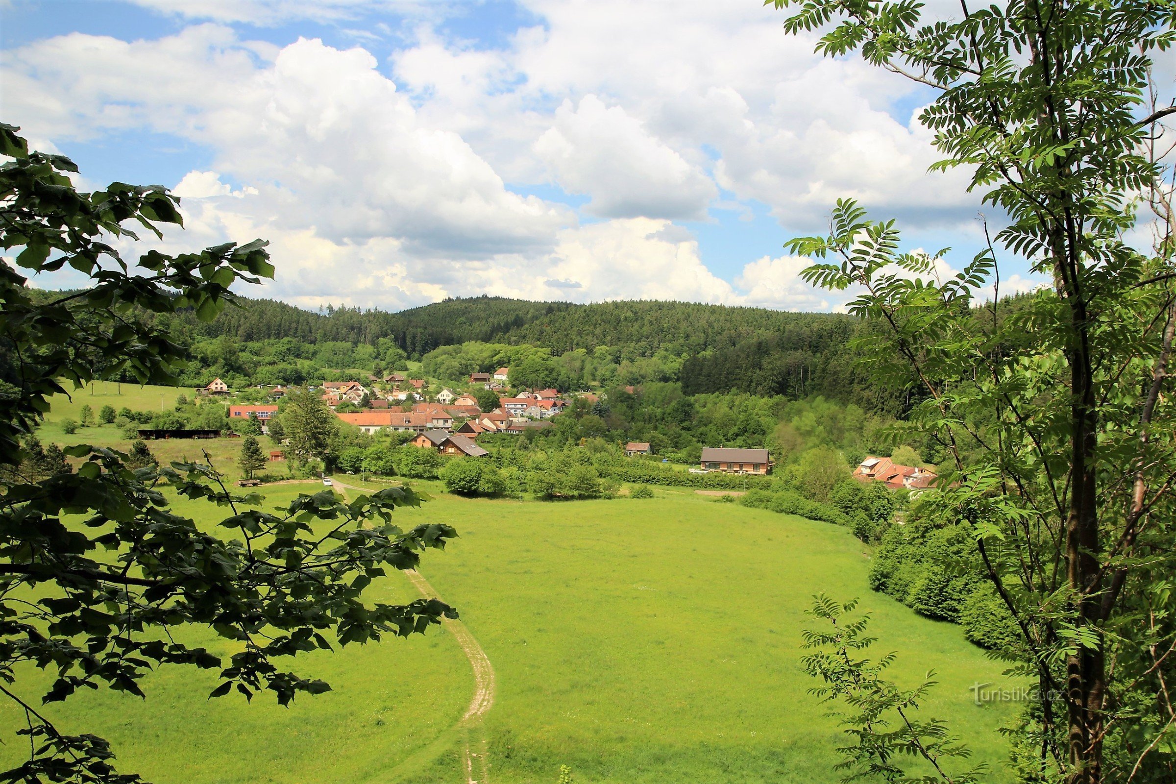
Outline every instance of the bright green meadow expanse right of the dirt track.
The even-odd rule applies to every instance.
[[[957,626],[871,592],[844,529],[676,492],[446,498],[429,512],[462,541],[423,572],[499,675],[496,782],[554,780],[561,763],[594,783],[837,780],[843,738],[806,693],[797,650],[816,592],[862,597],[876,652],[900,654],[895,677],[910,685],[937,670],[929,712],[978,758],[998,768],[1005,756],[994,730],[1010,713],[977,708],[968,690],[1002,666]]]

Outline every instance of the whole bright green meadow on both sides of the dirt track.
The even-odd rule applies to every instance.
[[[435,500],[400,523],[461,532],[421,571],[496,671],[490,782],[555,782],[561,764],[581,784],[838,780],[833,750],[844,738],[800,664],[813,623],[803,611],[817,592],[862,597],[876,650],[898,654],[904,684],[937,670],[927,711],[997,769],[991,780],[1007,780],[995,729],[1013,709],[978,708],[968,689],[1000,681],[1001,665],[958,628],[873,594],[868,552],[844,529],[688,491],[520,504],[417,484]],[[319,489],[266,488],[269,502]],[[402,575],[372,590],[413,596]],[[213,677],[165,669],[145,703],[91,693],[52,711],[68,729],[109,737],[122,768],[160,784],[465,780],[454,728],[473,676],[447,632],[316,654],[305,670],[335,691],[290,709],[265,696],[208,702]],[[0,719],[11,730],[20,717],[5,708]],[[12,759],[19,745],[0,753]]]

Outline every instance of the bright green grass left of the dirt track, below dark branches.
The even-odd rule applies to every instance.
[[[288,503],[298,492],[321,490],[319,483],[267,488],[266,505]],[[207,504],[181,501],[182,514],[206,520]],[[225,512],[228,514],[228,512]],[[443,557],[443,556],[437,556]],[[372,599],[416,598],[395,575],[372,587]],[[235,650],[214,635],[196,631],[187,639],[220,656]],[[465,711],[472,676],[466,658],[447,636],[430,631],[380,645],[352,645],[342,652],[315,652],[295,668],[321,677],[333,691],[301,697],[280,708],[269,693],[247,704],[240,695],[208,701],[216,686],[213,672],[163,668],[147,679],[147,702],[114,692],[81,692],[68,706],[47,711],[66,731],[99,731],[118,755],[123,772],[134,771],[159,784],[180,782],[375,782],[390,768],[437,738],[454,738],[450,728]],[[32,668],[19,671],[25,693],[48,679]],[[33,701],[34,704],[36,699]],[[12,742],[22,716],[0,703],[0,760],[18,762],[25,746]],[[442,750],[447,745],[442,745]]]

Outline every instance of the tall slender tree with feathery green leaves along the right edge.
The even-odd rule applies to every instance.
[[[817,51],[936,91],[920,121],[970,186],[1008,216],[958,273],[900,253],[893,221],[838,201],[830,233],[788,247],[818,286],[857,293],[878,329],[856,342],[873,378],[917,389],[910,428],[954,470],[929,509],[965,527],[1020,631],[1002,652],[1038,681],[1037,776],[1074,784],[1170,779],[1176,676],[1170,614],[1176,409],[1167,367],[1176,331],[1172,169],[1152,58],[1176,6],[1147,0],[1014,0],[923,21],[923,6],[770,0]],[[1170,152],[1170,150],[1169,150]],[[1138,199],[1136,197],[1138,196]],[[1155,213],[1151,254],[1128,243]],[[985,227],[987,232],[987,227]],[[997,248],[1053,283],[1007,313]],[[947,572],[916,584],[927,609],[961,614]],[[1110,663],[1114,663],[1111,666]],[[1156,695],[1160,695],[1156,698]]]

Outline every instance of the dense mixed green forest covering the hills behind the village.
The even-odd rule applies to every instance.
[[[380,375],[407,368],[409,360],[425,361],[425,371],[433,377],[457,381],[475,370],[493,370],[497,362],[530,356],[534,383],[561,389],[680,382],[687,395],[822,395],[891,415],[901,408],[895,398],[880,398],[854,370],[849,342],[863,327],[837,314],[489,296],[445,300],[401,313],[359,308],[315,313],[252,300],[211,323],[185,315],[165,326],[192,350],[193,362],[183,376],[189,386],[213,375],[235,386],[298,384],[343,377],[348,370]]]

